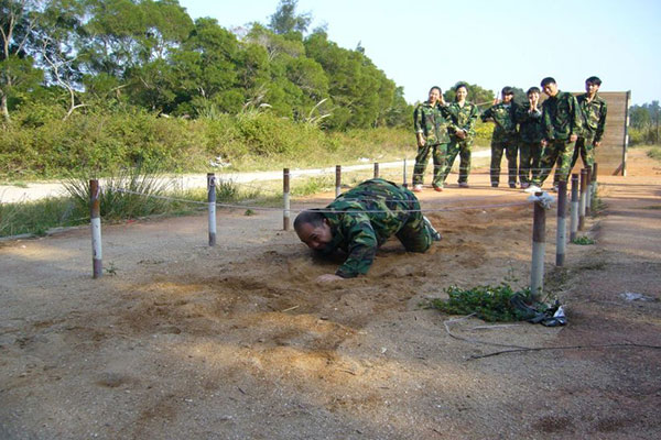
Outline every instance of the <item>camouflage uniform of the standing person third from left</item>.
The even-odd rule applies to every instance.
[[[503,151],[507,157],[508,183],[510,186],[517,185],[519,140],[516,113],[514,102],[499,102],[481,114],[483,122],[491,120],[496,124],[491,135],[491,186],[498,186],[500,182],[500,162]]]

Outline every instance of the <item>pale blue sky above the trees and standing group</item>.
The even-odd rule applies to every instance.
[[[231,30],[268,24],[279,0],[180,4]],[[593,75],[600,91],[631,90],[631,103],[661,100],[659,0],[299,0],[297,13],[342,47],[360,43],[410,103],[459,80],[527,90],[552,76],[561,90],[582,91]]]

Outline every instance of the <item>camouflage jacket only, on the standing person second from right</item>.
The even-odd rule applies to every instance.
[[[548,141],[568,141],[572,134],[581,134],[581,108],[576,98],[557,90],[557,95],[542,102],[542,124]]]

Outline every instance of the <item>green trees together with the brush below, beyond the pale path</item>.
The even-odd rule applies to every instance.
[[[414,150],[403,89],[311,22],[296,0],[232,30],[177,0],[0,0],[0,178]]]

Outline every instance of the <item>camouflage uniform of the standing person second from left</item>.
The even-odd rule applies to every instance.
[[[445,156],[445,170],[443,172],[442,182],[445,183],[452,164],[454,163],[457,153],[459,154],[459,184],[468,183],[468,174],[470,173],[470,147],[473,146],[473,138],[475,136],[475,121],[479,114],[477,106],[466,101],[464,107],[458,102],[452,102],[447,106],[452,123],[448,127],[451,133],[449,145],[447,146],[447,155]],[[455,133],[459,130],[466,132],[466,138],[460,139]]]

